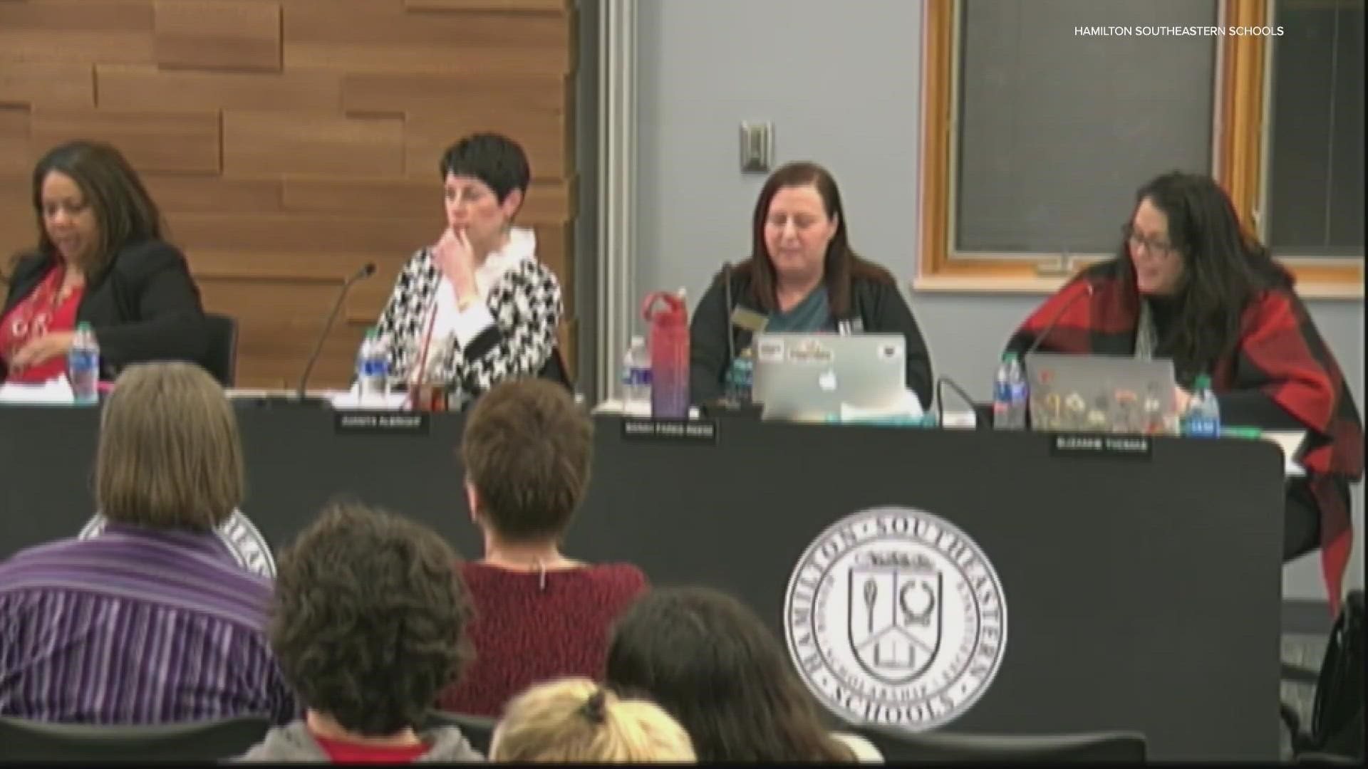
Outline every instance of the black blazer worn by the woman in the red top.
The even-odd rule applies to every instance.
[[[56,260],[29,255],[10,276],[0,317],[42,282]],[[163,241],[142,241],[119,249],[105,270],[89,279],[77,322],[88,322],[100,343],[100,378],[114,379],[131,363],[185,360],[202,363],[208,330],[200,289],[185,256]],[[0,382],[8,375],[0,360]]]

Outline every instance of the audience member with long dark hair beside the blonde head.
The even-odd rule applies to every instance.
[[[605,681],[665,707],[700,764],[884,759],[863,738],[826,731],[778,639],[715,590],[653,590],[632,603],[613,628]]]

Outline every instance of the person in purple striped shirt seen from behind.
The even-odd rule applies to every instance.
[[[244,495],[219,384],[187,363],[126,368],[104,405],[94,475],[104,534],[0,562],[0,716],[291,720],[265,635],[271,583],[215,535]]]

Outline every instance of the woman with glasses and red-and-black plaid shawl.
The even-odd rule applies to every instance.
[[[1363,423],[1293,276],[1198,174],[1174,171],[1142,186],[1122,235],[1116,257],[1047,300],[1008,349],[1038,342],[1048,352],[1172,359],[1179,410],[1193,380],[1208,375],[1226,424],[1305,430],[1308,478],[1287,484],[1283,560],[1320,547],[1338,602]]]

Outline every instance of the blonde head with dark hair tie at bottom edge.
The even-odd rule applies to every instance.
[[[618,699],[588,679],[536,684],[509,702],[494,731],[498,762],[694,762],[679,721],[654,702]]]

